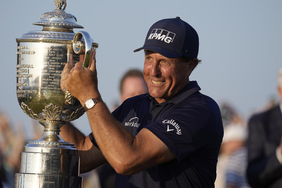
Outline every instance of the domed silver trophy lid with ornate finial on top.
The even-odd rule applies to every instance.
[[[54,0],[54,4],[57,9],[52,12],[46,12],[41,15],[41,21],[33,23],[33,25],[43,26],[42,31],[58,31],[61,30],[73,30],[73,28],[84,28],[76,24],[76,17],[72,14],[66,13],[66,0]],[[64,5],[63,9],[62,6]]]

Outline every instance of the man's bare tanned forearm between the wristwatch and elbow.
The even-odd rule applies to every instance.
[[[124,156],[130,155],[135,137],[115,120],[105,103],[97,103],[87,115],[100,150],[115,168]]]

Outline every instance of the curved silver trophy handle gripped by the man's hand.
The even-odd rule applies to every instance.
[[[84,43],[81,42],[82,37]],[[73,38],[73,51],[77,54],[85,54],[83,66],[88,67],[90,62],[90,54],[92,51],[92,40],[86,31],[78,31]]]

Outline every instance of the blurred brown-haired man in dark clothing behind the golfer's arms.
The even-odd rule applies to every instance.
[[[120,79],[120,104],[128,98],[148,93],[148,87],[143,73],[137,69],[130,69]],[[118,105],[119,106],[119,105]],[[109,163],[97,168],[101,188],[115,186],[115,170]]]

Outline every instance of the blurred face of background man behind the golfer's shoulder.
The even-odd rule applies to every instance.
[[[120,93],[121,102],[130,97],[141,95],[148,92],[147,85],[143,78],[129,76],[122,83],[122,92]]]

